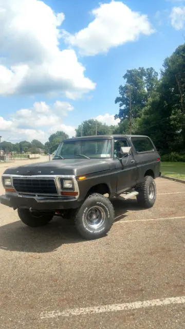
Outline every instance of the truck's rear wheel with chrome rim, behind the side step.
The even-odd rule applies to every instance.
[[[143,208],[152,208],[156,200],[156,185],[154,178],[151,176],[145,176],[142,184],[136,189],[139,194],[137,195],[137,201]]]

